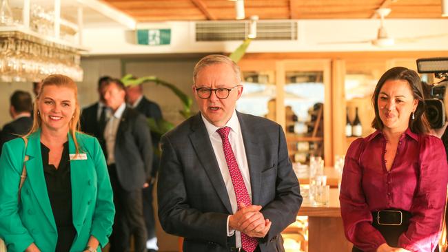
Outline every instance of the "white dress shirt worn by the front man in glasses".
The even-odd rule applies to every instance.
[[[225,188],[227,189],[227,194],[229,195],[230,204],[232,205],[232,212],[236,213],[238,211],[238,204],[236,203],[236,195],[234,186],[232,184],[232,178],[230,177],[229,167],[227,167],[227,162],[225,161],[223,141],[218,132],[216,132],[219,127],[212,125],[204,116],[201,114],[202,120],[207,128],[208,136],[212,142],[212,147],[216,160],[218,161],[219,169],[221,170],[221,175],[223,176]],[[234,151],[234,156],[236,162],[238,163],[238,168],[243,176],[244,183],[246,185],[247,193],[249,193],[250,200],[252,201],[252,189],[250,187],[250,174],[249,166],[247,165],[246,151],[243,143],[243,134],[241,134],[240,122],[238,121],[238,116],[236,116],[236,111],[232,114],[232,117],[225,125],[230,127],[229,141],[232,145],[232,151]],[[229,217],[227,217],[227,236],[232,236],[235,233],[236,247],[241,247],[241,233],[236,230],[231,230],[229,228]]]

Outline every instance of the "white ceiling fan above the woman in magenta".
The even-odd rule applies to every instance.
[[[409,43],[409,42],[415,42],[418,39],[432,39],[437,38],[440,36],[448,36],[448,34],[434,34],[434,35],[424,35],[424,36],[414,36],[409,38],[399,38],[394,39],[392,36],[389,36],[387,33],[384,21],[385,17],[389,15],[391,12],[391,9],[389,8],[378,8],[376,10],[376,14],[380,17],[380,28],[378,28],[378,33],[376,35],[375,39],[369,39],[367,41],[332,41],[332,42],[322,42],[319,44],[352,44],[352,43],[371,43],[372,45],[378,46],[378,47],[387,47],[394,45],[396,42],[399,43]]]

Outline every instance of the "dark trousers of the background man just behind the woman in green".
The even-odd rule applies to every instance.
[[[108,169],[116,211],[110,235],[110,252],[130,251],[131,235],[134,235],[134,251],[145,252],[146,229],[141,189],[126,191],[120,185],[115,165],[108,166]]]

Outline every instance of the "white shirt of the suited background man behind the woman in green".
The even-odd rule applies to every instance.
[[[112,165],[115,163],[114,149],[115,149],[115,138],[116,132],[119,129],[121,116],[123,116],[123,112],[125,111],[126,103],[122,103],[118,109],[114,112],[112,116],[110,116],[108,123],[105,125],[104,129],[104,140],[105,146],[108,151],[108,165]]]

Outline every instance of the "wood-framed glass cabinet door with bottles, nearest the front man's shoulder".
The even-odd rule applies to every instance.
[[[282,90],[277,99],[283,107],[289,157],[308,163],[311,156],[320,156],[332,165],[330,62],[282,61],[278,70],[283,74],[277,78]]]

